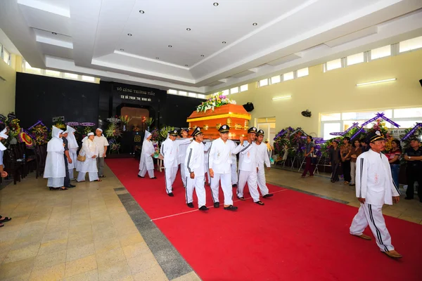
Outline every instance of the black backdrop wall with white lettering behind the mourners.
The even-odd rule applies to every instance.
[[[105,128],[106,118],[120,115],[123,106],[148,109],[155,126],[186,127],[186,118],[201,102],[136,85],[108,81],[94,84],[16,73],[15,114],[23,128],[38,120],[51,126],[52,118],[57,116],[64,116],[65,122],[94,122]]]

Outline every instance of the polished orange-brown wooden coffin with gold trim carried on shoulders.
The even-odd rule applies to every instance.
[[[240,136],[246,136],[249,129],[250,114],[242,105],[223,105],[214,111],[192,112],[186,122],[189,127],[197,126],[203,129],[204,139],[219,138],[219,127],[227,124],[230,127],[229,139],[238,140]]]

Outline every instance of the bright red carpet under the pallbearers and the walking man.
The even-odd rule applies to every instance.
[[[134,159],[107,164],[203,280],[422,278],[422,226],[416,223],[385,216],[392,242],[404,256],[395,261],[379,251],[374,238],[349,235],[357,208],[269,185],[276,193],[262,200],[265,206],[246,200],[235,202],[236,212],[220,207],[203,213],[186,207],[179,175],[175,197],[168,197],[164,171],[155,171],[157,180],[141,179]],[[223,202],[221,191],[220,198]],[[195,195],[194,204],[197,208]],[[209,187],[207,206],[212,206]],[[186,211],[191,212],[171,216]],[[365,233],[373,237],[369,228]]]

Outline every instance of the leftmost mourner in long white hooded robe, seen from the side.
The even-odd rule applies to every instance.
[[[47,186],[52,188],[63,188],[66,176],[65,158],[63,154],[65,147],[62,137],[63,130],[53,126],[51,132],[51,140],[47,143],[46,166],[44,170],[44,178],[47,178]]]

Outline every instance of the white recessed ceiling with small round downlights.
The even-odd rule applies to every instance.
[[[8,0],[0,28],[32,67],[207,93],[421,36],[422,1]]]

